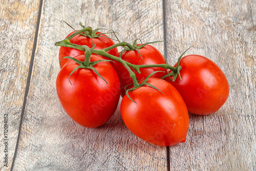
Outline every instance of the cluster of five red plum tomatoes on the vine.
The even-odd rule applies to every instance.
[[[94,35],[77,34],[70,42],[89,48],[95,45],[94,50],[115,45],[111,38],[100,32],[94,32]],[[134,50],[122,52],[115,47],[106,53],[134,65],[166,63],[164,56],[153,46],[145,45],[140,49],[136,46],[140,45],[134,45]],[[74,57],[74,60],[63,58],[66,56]],[[141,73],[131,68],[140,85],[133,91],[127,91],[133,88],[131,72],[118,61],[104,61],[109,59],[105,56],[92,51],[88,67],[94,69],[82,68],[80,66],[85,59],[83,51],[70,46],[60,47],[59,50],[61,69],[56,80],[59,101],[67,114],[85,127],[98,127],[108,121],[115,113],[121,95],[120,113],[128,129],[149,143],[170,146],[185,142],[188,113],[214,113],[229,95],[224,73],[216,63],[204,56],[182,57],[174,66],[181,66],[175,81],[172,74],[166,75],[172,71],[163,67],[145,66],[140,69]],[[144,81],[155,71],[161,72]]]

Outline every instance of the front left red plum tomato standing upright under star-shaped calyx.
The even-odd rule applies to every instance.
[[[84,61],[84,55],[75,57]],[[103,59],[91,55],[91,62]],[[109,62],[99,62],[93,67],[108,82],[106,83],[92,69],[77,69],[79,65],[69,60],[59,71],[56,90],[59,101],[67,114],[85,127],[98,127],[114,114],[119,98],[120,83],[116,71]]]

